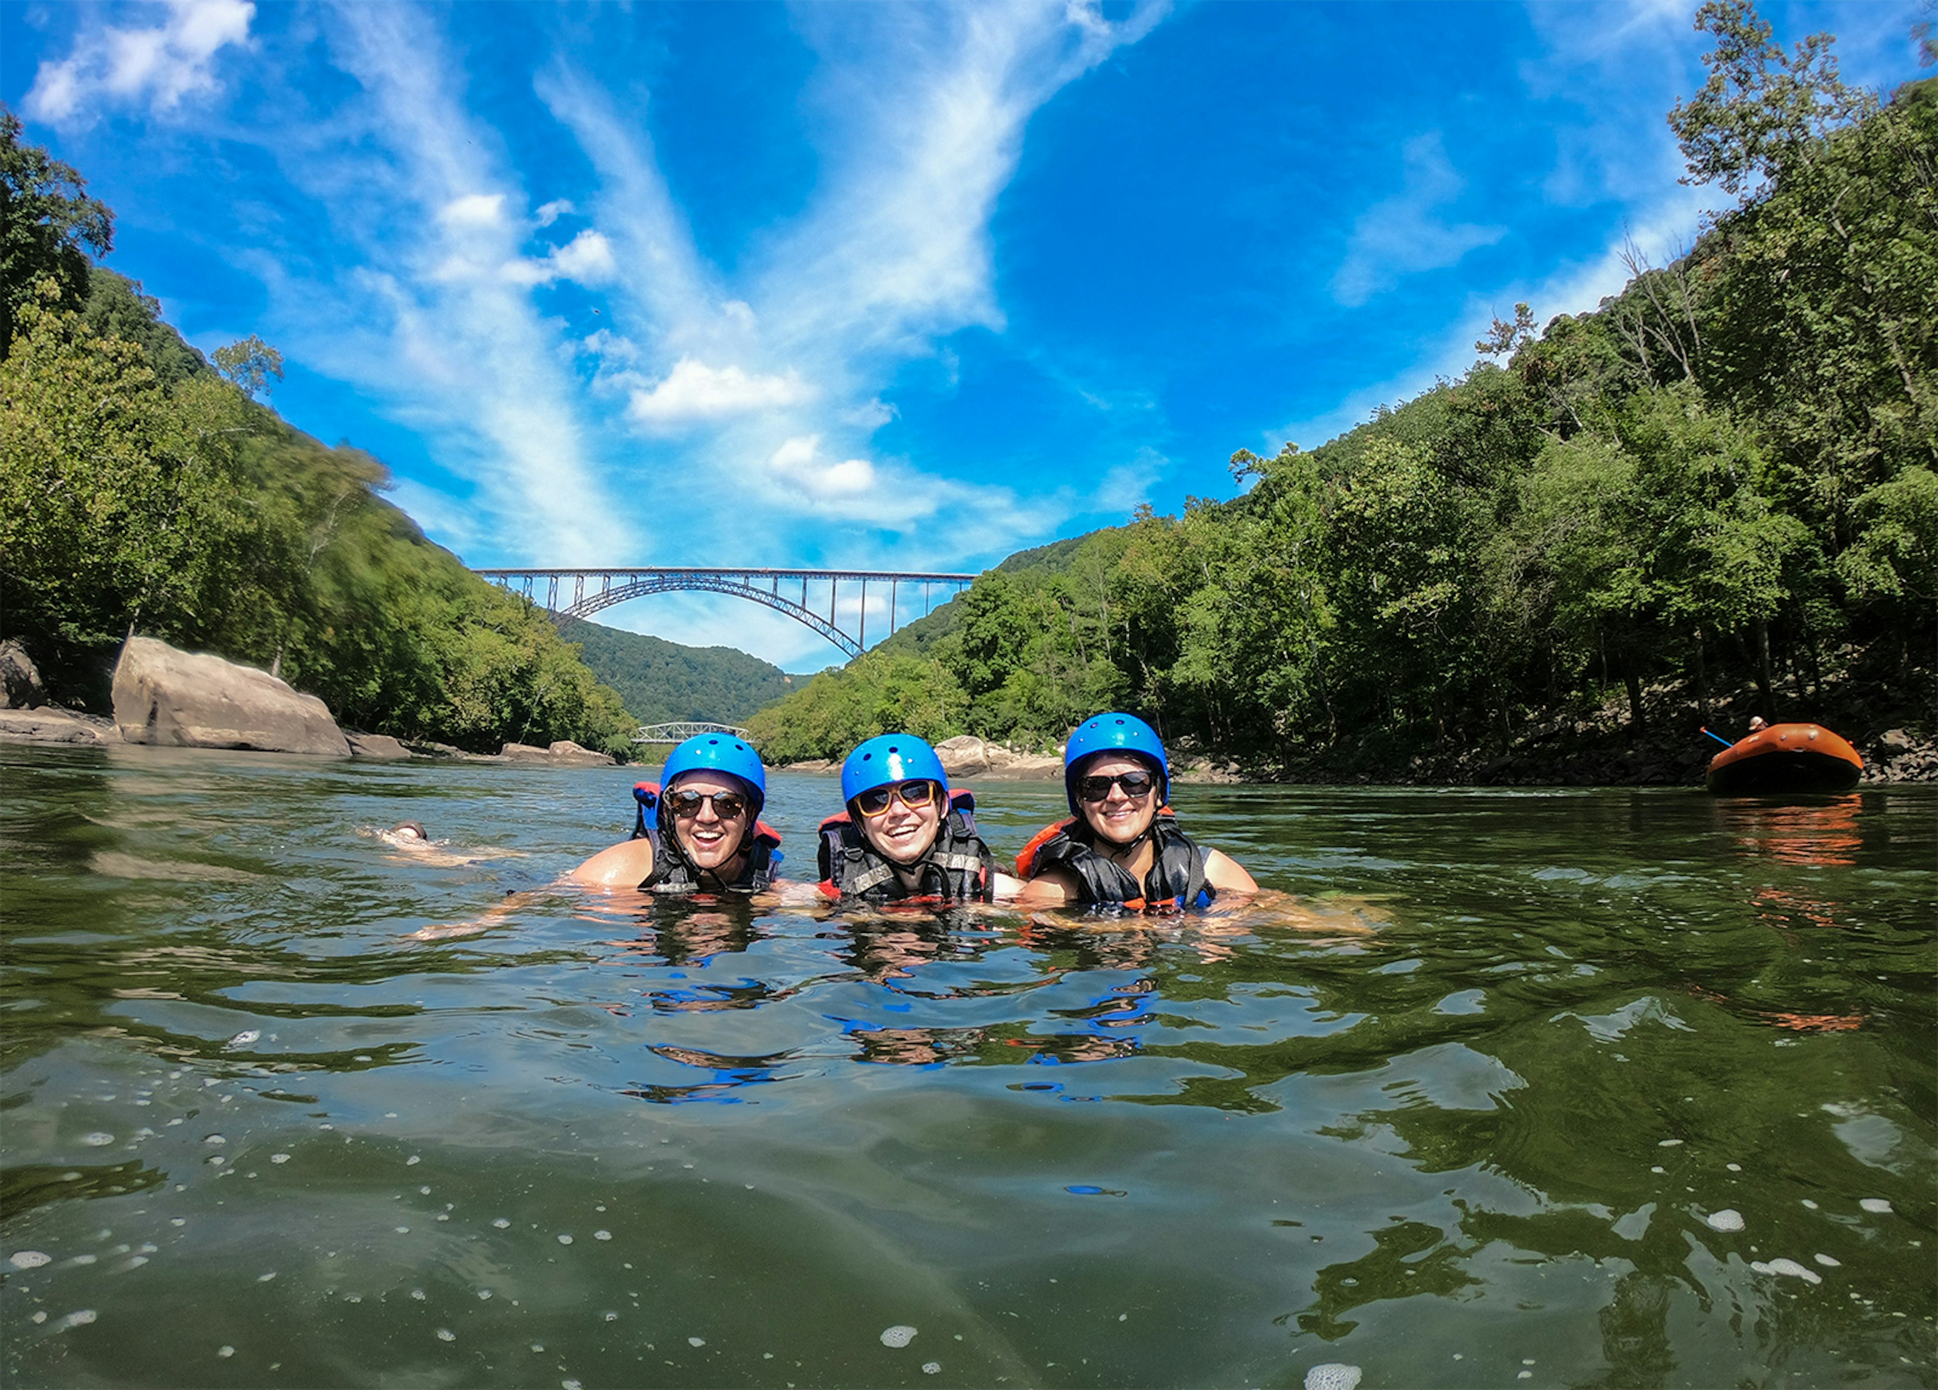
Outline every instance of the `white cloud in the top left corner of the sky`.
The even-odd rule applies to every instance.
[[[254,17],[248,0],[169,0],[157,27],[87,33],[66,58],[41,64],[23,103],[27,114],[66,124],[91,122],[114,103],[174,111],[184,97],[219,87],[215,56],[246,45]]]

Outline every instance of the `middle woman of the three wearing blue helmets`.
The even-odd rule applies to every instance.
[[[975,797],[950,793],[936,750],[911,733],[868,739],[841,764],[847,810],[822,822],[822,894],[864,901],[994,901],[1021,884],[996,872]]]

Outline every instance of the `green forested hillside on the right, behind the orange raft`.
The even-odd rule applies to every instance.
[[[756,715],[771,758],[905,727],[1050,744],[1122,706],[1260,774],[1407,775],[1620,708],[1934,719],[1938,81],[1705,6],[1669,120],[1731,202],[1671,266],[1250,490],[1016,556]],[[1744,710],[1746,711],[1746,710]],[[1857,729],[1853,729],[1857,733]]]

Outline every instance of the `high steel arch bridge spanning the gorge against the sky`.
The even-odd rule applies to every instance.
[[[973,580],[973,574],[924,574],[901,570],[711,570],[711,568],[583,568],[583,570],[473,570],[492,584],[523,593],[533,603],[566,618],[589,618],[614,603],[641,599],[647,593],[731,593],[736,599],[764,603],[797,622],[814,628],[849,657],[868,648],[868,585],[888,585],[888,632],[899,618],[901,585],[922,585],[922,613],[934,607],[934,591],[946,587],[953,599]],[[841,609],[841,585],[859,582],[860,595],[851,613]],[[564,603],[564,587],[572,597]],[[800,585],[798,599],[795,585]],[[783,591],[785,585],[785,591]],[[822,615],[820,595],[828,593],[828,613]],[[851,587],[853,591],[853,587]],[[541,597],[543,593],[543,597]],[[814,605],[808,605],[808,597]],[[915,607],[913,601],[909,605]],[[851,630],[853,628],[853,630]],[[886,636],[886,634],[884,634]]]

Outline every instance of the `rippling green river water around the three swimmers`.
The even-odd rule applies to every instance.
[[[0,775],[10,1386],[1938,1384],[1938,789],[1184,787],[1295,903],[1031,923],[550,888],[626,768]]]

